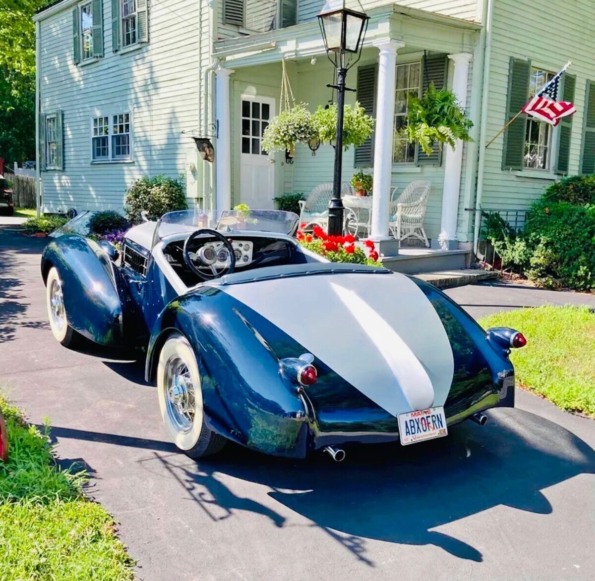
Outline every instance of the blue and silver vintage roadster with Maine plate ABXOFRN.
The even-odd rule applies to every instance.
[[[269,454],[447,434],[514,405],[512,329],[484,331],[440,290],[381,267],[330,263],[282,211],[165,214],[107,242],[46,247],[49,323],[143,348],[165,427],[191,457],[227,440]]]

